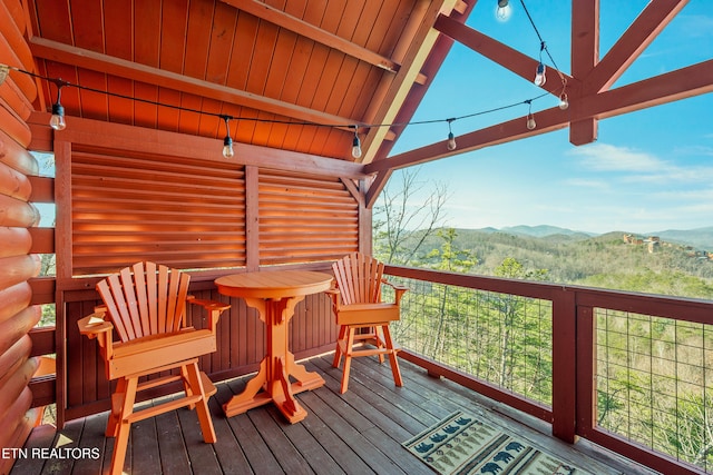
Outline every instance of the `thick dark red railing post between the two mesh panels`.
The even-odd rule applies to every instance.
[[[577,318],[575,293],[553,296],[553,435],[576,442]]]

